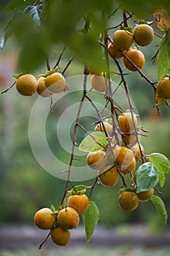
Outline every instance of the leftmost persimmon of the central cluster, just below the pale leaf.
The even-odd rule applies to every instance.
[[[99,170],[107,165],[107,154],[102,150],[90,152],[86,160],[91,169]]]

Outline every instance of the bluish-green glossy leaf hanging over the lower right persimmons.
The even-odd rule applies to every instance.
[[[158,181],[158,170],[150,162],[139,166],[136,177],[137,193],[152,189],[158,184]]]

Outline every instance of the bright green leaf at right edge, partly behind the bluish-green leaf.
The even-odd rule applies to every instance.
[[[153,166],[156,167],[159,173],[159,183],[163,187],[165,183],[164,173],[169,173],[170,162],[169,159],[160,153],[152,153],[147,156]]]

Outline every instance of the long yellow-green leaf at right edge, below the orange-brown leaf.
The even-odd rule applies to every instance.
[[[162,80],[170,70],[170,32],[163,38],[158,52],[158,79]]]

